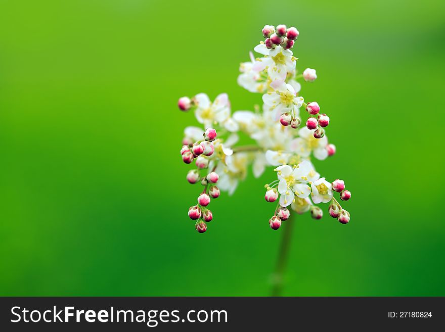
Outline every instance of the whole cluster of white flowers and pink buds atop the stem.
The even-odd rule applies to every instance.
[[[180,110],[193,111],[203,126],[185,128],[181,149],[183,161],[195,161],[196,165],[187,174],[187,180],[204,186],[198,205],[189,209],[189,217],[197,220],[195,227],[199,232],[205,232],[206,223],[212,220],[207,209],[210,198],[218,197],[220,190],[232,195],[239,181],[246,177],[249,165],[255,177],[266,167],[274,166],[277,178],[265,185],[264,195],[267,202],[277,202],[269,220],[272,229],[280,228],[290,217],[288,208],[321,219],[323,211],[316,206],[320,203],[330,203],[329,214],[340,223],[349,222],[349,213],[334,198],[334,192],[339,193],[342,201],[350,198],[344,181],[327,181],[311,161],[311,157],[324,160],[335,155],[336,147],[328,142],[325,132],[329,117],[320,113],[317,102],[306,104],[300,95],[300,80],[314,82],[317,73],[306,68],[299,74],[296,69],[298,59],[291,49],[299,32],[283,24],[266,25],[262,35],[265,41],[254,48],[260,57],[250,53],[250,61],[241,64],[238,76],[239,85],[262,93],[262,107],[232,114],[226,93],[219,94],[213,102],[205,93],[182,97],[178,102]],[[302,127],[301,107],[307,117]],[[253,139],[255,144],[237,146],[240,134]],[[216,182],[219,188],[214,185]]]

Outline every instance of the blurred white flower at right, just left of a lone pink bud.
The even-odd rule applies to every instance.
[[[298,130],[300,137],[292,141],[290,149],[304,158],[309,157],[310,152],[313,152],[315,158],[324,160],[328,157],[328,150],[326,149],[328,138],[326,135],[322,138],[315,138],[314,131],[315,129],[308,129],[307,127]]]

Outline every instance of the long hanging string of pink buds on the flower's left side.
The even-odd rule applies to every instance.
[[[189,217],[192,220],[197,220],[195,228],[198,232],[203,233],[207,230],[207,222],[213,219],[212,212],[207,209],[210,204],[210,198],[218,198],[220,191],[216,185],[219,175],[214,172],[214,169],[201,176],[200,170],[208,168],[209,161],[206,157],[213,154],[214,148],[212,141],[216,139],[216,130],[208,128],[205,130],[204,140],[197,141],[194,144],[184,145],[181,149],[183,161],[190,164],[196,158],[197,169],[192,169],[187,173],[187,181],[191,184],[201,182],[204,190],[198,197],[198,204],[189,208]],[[205,157],[204,157],[205,156]]]

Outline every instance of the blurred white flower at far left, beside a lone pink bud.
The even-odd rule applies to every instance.
[[[195,116],[199,123],[204,124],[204,129],[210,128],[215,122],[224,123],[230,117],[230,103],[227,93],[219,94],[213,103],[207,94],[198,93],[195,96],[197,108]]]

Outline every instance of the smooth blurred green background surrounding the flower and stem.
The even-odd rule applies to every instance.
[[[444,296],[445,3],[1,1],[0,295],[266,296],[269,170],[187,217],[177,98],[236,83],[264,24],[295,25],[331,117],[348,225],[299,216],[284,295]],[[327,206],[324,206],[327,214]]]

